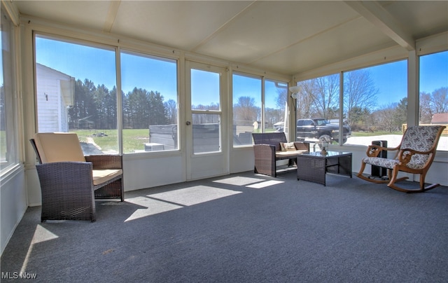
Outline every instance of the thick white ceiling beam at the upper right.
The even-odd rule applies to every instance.
[[[408,51],[415,50],[415,40],[377,1],[344,1],[381,32]]]

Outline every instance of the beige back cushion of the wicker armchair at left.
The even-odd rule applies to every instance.
[[[78,135],[74,132],[41,132],[34,134],[42,163],[85,162]]]

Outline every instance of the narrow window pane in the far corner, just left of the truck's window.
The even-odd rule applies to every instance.
[[[288,83],[265,81],[265,132],[286,132]]]

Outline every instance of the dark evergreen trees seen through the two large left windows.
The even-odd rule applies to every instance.
[[[123,128],[145,129],[149,125],[177,123],[177,104],[157,91],[134,88],[121,92],[123,104]],[[75,82],[73,106],[69,108],[71,129],[116,129],[117,89],[108,90],[88,79]]]

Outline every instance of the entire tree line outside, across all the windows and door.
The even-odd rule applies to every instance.
[[[296,118],[339,118],[339,74],[302,81],[297,96]],[[279,90],[277,108],[265,109],[265,123],[272,127],[284,119],[287,91]],[[378,88],[367,70],[351,71],[344,76],[344,120],[352,130],[399,131],[407,120],[407,97],[400,102],[379,105]],[[122,92],[123,128],[144,129],[149,125],[177,123],[177,103],[165,102],[158,91],[134,88]],[[117,89],[108,90],[104,85],[95,86],[88,79],[75,82],[73,106],[68,110],[71,129],[116,129]],[[448,112],[448,88],[442,87],[432,93],[420,93],[420,123],[430,123],[435,113]],[[193,109],[218,110],[219,105],[197,105]],[[233,123],[252,125],[261,120],[261,109],[253,97],[241,96],[233,105]],[[217,117],[195,114],[193,123],[216,123]]]

